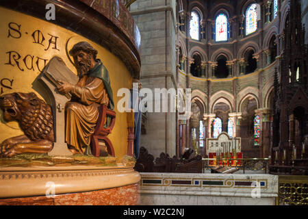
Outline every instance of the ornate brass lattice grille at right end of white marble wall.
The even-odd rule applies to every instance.
[[[276,205],[308,205],[308,176],[280,175]]]

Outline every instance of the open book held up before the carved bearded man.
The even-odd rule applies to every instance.
[[[42,70],[42,73],[53,83],[55,87],[61,86],[60,81],[76,84],[78,76],[71,71],[61,57],[54,56]],[[69,93],[64,94],[67,99],[71,98]]]

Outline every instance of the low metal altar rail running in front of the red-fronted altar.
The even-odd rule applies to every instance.
[[[243,173],[245,173],[245,170],[264,170],[264,173],[266,173],[268,170],[268,164],[270,163],[269,158],[238,158],[220,160],[217,160],[216,158],[203,158],[203,172],[205,169],[210,168],[209,161],[211,160],[216,161],[217,163],[222,163],[222,166],[231,166],[230,164],[235,163],[235,167],[243,170]]]

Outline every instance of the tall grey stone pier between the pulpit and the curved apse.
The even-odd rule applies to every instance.
[[[140,81],[142,88],[150,88],[153,92],[155,88],[177,88],[175,2],[140,0],[129,8],[141,35]],[[175,155],[175,113],[147,112],[146,116],[146,135],[141,136],[140,146],[146,147],[155,157],[162,152]]]

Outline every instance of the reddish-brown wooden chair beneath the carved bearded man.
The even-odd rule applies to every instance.
[[[110,118],[109,124],[107,124],[107,118]],[[101,105],[99,107],[99,119],[97,120],[97,126],[91,136],[91,152],[93,156],[105,157],[107,156],[107,153],[112,157],[115,156],[112,142],[107,138],[107,136],[112,133],[115,123],[116,112],[108,109],[107,105]]]

